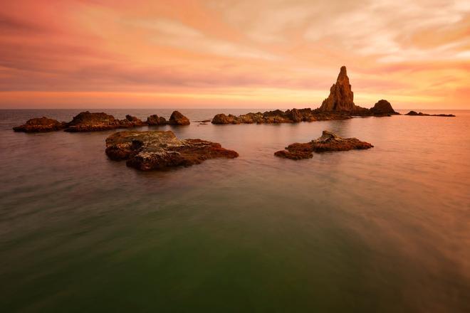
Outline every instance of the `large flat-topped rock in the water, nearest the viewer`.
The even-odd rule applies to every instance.
[[[106,139],[106,154],[127,160],[127,166],[148,171],[170,166],[190,166],[207,159],[236,158],[238,153],[201,139],[177,139],[171,131],[115,132]]]

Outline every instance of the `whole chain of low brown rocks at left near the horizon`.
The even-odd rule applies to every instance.
[[[169,120],[158,115],[150,115],[147,121],[126,115],[124,120],[117,120],[113,115],[105,112],[80,112],[73,117],[71,122],[59,122],[48,117],[39,117],[28,120],[25,124],[13,127],[15,132],[53,132],[64,130],[66,132],[97,132],[100,130],[132,128],[142,126],[162,126],[162,125],[189,125],[189,119],[178,111],[172,112]]]

